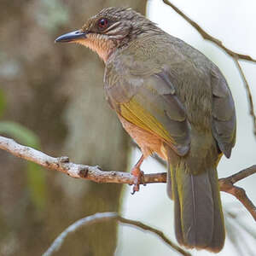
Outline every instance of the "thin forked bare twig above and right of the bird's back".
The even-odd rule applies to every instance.
[[[178,15],[181,15],[184,20],[187,20],[189,22],[189,24],[191,26],[193,26],[195,28],[195,30],[201,34],[202,38],[204,38],[214,44],[217,44],[218,47],[220,47],[221,49],[224,49],[224,52],[226,54],[230,55],[230,57],[232,57],[233,60],[236,62],[236,66],[238,68],[238,71],[241,75],[241,79],[243,80],[243,84],[245,85],[245,89],[247,91],[247,101],[249,102],[250,115],[252,116],[252,119],[253,119],[253,134],[254,134],[254,136],[256,136],[256,115],[255,115],[254,109],[253,109],[253,96],[251,94],[247,79],[245,78],[245,75],[241,69],[239,62],[238,62],[239,60],[244,60],[244,61],[252,61],[252,62],[256,63],[256,60],[253,59],[249,55],[241,55],[231,49],[228,49],[227,47],[224,46],[224,44],[220,40],[218,40],[218,38],[214,38],[210,34],[208,34],[205,30],[203,30],[201,28],[201,26],[199,26],[194,20],[191,20],[187,15],[185,15],[174,4],[170,3],[167,0],[163,0],[163,2],[166,3],[168,6],[172,7],[172,9],[174,9]]]

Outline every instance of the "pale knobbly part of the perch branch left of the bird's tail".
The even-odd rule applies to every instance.
[[[52,157],[37,149],[16,143],[13,139],[0,136],[0,148],[17,157],[32,161],[50,170],[64,172],[71,177],[89,179],[96,183],[134,183],[134,177],[127,172],[102,171],[99,166],[78,165],[69,161],[67,156]],[[145,183],[165,183],[166,173],[147,174]]]

